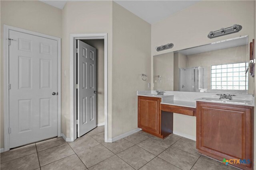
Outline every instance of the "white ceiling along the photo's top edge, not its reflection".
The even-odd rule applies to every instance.
[[[67,0],[41,1],[60,9],[63,9],[67,2]],[[150,24],[184,10],[198,1],[199,0],[114,0],[114,2]]]

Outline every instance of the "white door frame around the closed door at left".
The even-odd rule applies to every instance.
[[[30,31],[27,29],[21,29],[18,27],[12,27],[10,25],[4,25],[3,36],[3,52],[4,52],[4,151],[10,150],[10,135],[8,133],[9,128],[9,47],[8,38],[9,30],[18,31],[21,33],[27,33],[39,37],[53,39],[57,41],[57,135],[61,137],[61,38],[53,37],[50,35]]]

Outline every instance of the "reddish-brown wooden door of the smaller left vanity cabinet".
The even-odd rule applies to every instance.
[[[144,131],[160,134],[161,98],[138,96],[138,127]]]

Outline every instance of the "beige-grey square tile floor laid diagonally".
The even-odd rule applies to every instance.
[[[196,142],[178,135],[166,139],[143,131],[104,143],[104,126],[74,142],[62,137],[1,153],[1,170],[237,170],[200,155]]]

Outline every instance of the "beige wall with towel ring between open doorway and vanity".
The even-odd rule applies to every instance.
[[[137,90],[150,90],[151,26],[113,3],[112,134],[116,137],[137,126]],[[141,74],[147,80],[141,79]]]

